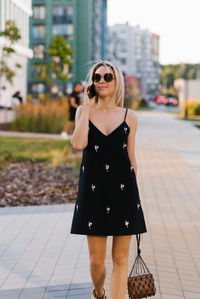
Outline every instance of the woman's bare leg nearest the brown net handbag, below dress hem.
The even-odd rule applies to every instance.
[[[124,299],[128,280],[128,257],[131,235],[113,236],[110,299]]]

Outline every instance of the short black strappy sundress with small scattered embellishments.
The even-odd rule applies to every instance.
[[[124,121],[109,135],[90,120],[83,149],[71,234],[120,236],[147,232]]]

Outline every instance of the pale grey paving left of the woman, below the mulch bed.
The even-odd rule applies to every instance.
[[[88,299],[86,239],[69,234],[73,204],[0,209],[0,298]]]

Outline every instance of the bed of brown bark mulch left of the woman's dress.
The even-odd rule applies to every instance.
[[[77,190],[78,178],[66,165],[16,162],[0,170],[0,207],[71,203]]]

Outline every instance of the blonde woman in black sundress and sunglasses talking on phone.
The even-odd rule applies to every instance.
[[[75,116],[71,143],[83,150],[72,234],[87,235],[94,298],[105,299],[107,236],[113,236],[110,298],[124,298],[131,236],[146,232],[136,181],[137,116],[123,108],[124,79],[110,62],[95,64]],[[96,96],[88,97],[94,84]]]

